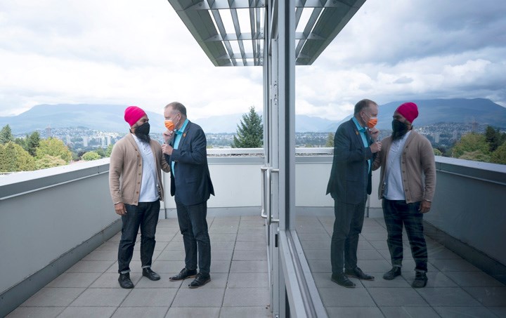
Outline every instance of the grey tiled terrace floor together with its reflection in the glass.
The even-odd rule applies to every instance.
[[[424,289],[410,286],[415,265],[408,241],[402,276],[382,279],[391,267],[382,218],[365,219],[358,247],[358,266],[376,279],[351,278],[355,289],[333,283],[333,221],[297,218],[297,233],[329,317],[506,317],[506,286],[430,238]],[[188,289],[190,279],[169,281],[184,266],[183,241],[176,219],[160,220],[153,255],[160,281],[142,277],[137,244],[131,263],[135,288],[119,287],[116,234],[7,317],[272,317],[264,220],[216,217],[208,223],[212,280],[199,289]]]

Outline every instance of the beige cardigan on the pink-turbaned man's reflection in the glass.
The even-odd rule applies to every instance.
[[[390,151],[391,137],[382,140],[382,150],[378,153],[372,170],[381,166],[380,187],[378,197],[383,197],[383,183],[387,171],[387,157]],[[432,145],[424,136],[411,131],[403,148],[402,176],[406,203],[422,200],[432,201],[436,190],[436,162]],[[423,178],[424,177],[424,178]],[[423,179],[422,179],[423,178]]]

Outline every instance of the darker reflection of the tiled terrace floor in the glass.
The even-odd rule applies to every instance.
[[[429,281],[413,289],[415,263],[404,233],[403,274],[382,278],[390,270],[387,230],[382,218],[366,218],[358,245],[358,266],[374,281],[351,279],[355,289],[330,281],[333,217],[301,216],[297,233],[329,317],[506,317],[506,286],[452,251],[427,238]]]

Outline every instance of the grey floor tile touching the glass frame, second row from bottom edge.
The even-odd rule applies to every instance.
[[[268,288],[226,289],[223,307],[268,306]]]

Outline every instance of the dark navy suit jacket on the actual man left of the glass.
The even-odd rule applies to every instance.
[[[171,141],[172,147],[175,139],[174,137]],[[171,196],[175,195],[185,206],[201,204],[207,201],[211,194],[214,195],[206,148],[204,131],[197,124],[188,121],[178,149],[174,149],[170,156],[165,154],[165,160],[169,164],[174,161],[174,171],[171,171]]]

